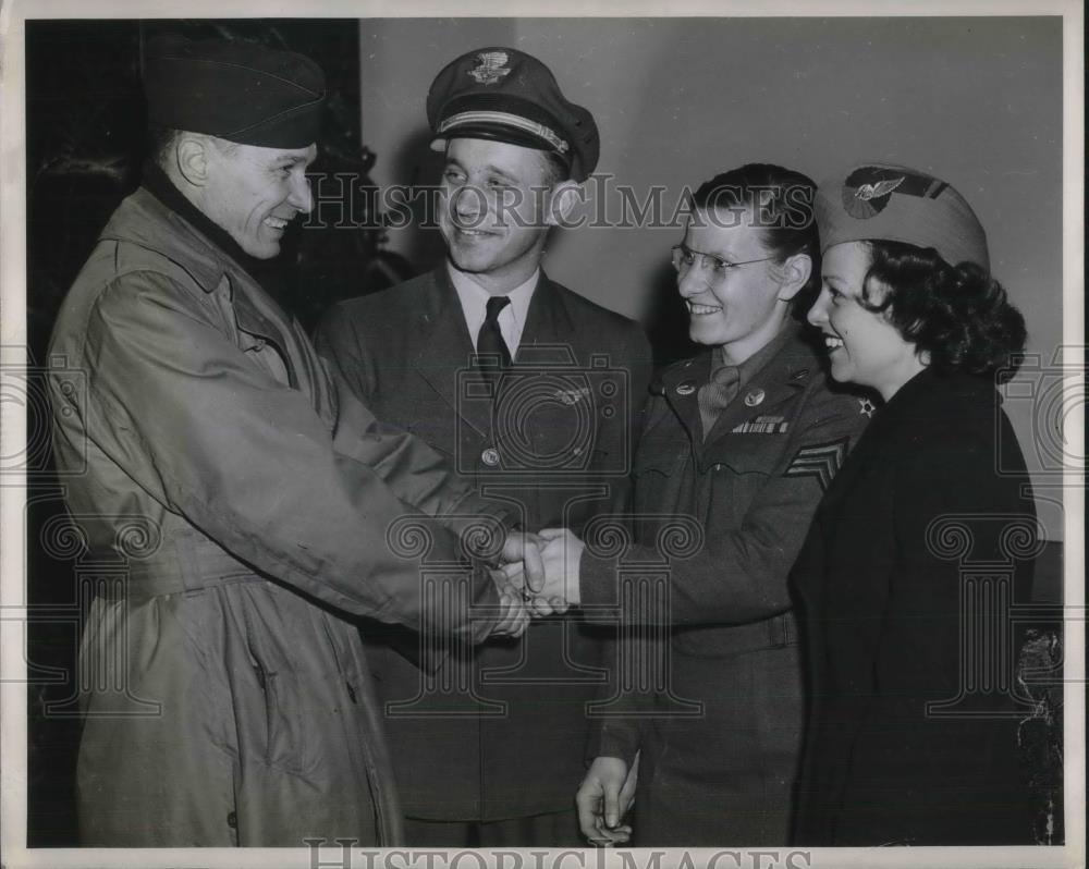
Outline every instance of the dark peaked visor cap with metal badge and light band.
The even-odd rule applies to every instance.
[[[598,126],[568,102],[551,71],[514,48],[480,48],[440,72],[427,95],[427,122],[441,150],[448,139],[487,138],[550,151],[585,181],[598,164]]]

